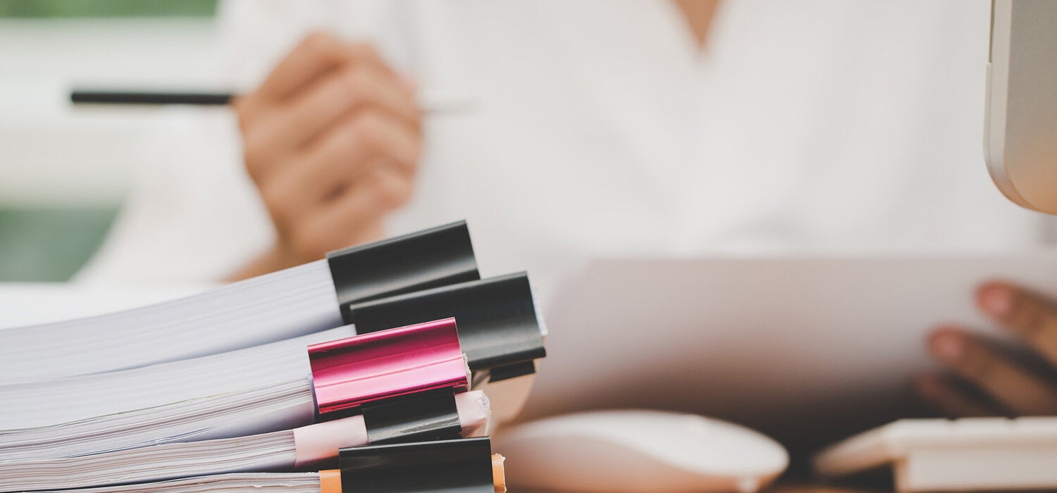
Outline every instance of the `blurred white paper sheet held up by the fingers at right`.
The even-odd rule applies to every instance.
[[[1057,255],[595,262],[550,299],[523,417],[660,407],[839,438],[920,412],[910,379],[934,367],[931,328],[1004,336],[973,307],[996,278],[1057,296]]]

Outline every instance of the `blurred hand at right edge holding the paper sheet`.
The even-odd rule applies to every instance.
[[[1057,368],[1057,310],[1051,300],[1008,283],[993,282],[977,291],[977,305]],[[919,394],[947,414],[1057,414],[1057,382],[1028,371],[978,336],[959,327],[939,328],[929,336],[928,348],[956,378],[986,396],[964,392],[960,390],[964,385],[940,376],[922,377],[917,381]]]

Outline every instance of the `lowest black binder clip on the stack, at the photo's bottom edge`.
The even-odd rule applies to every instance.
[[[341,449],[338,464],[341,491],[496,491],[487,437]]]

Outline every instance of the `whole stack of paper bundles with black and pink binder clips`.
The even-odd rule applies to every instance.
[[[0,492],[494,491],[482,435],[524,401],[543,333],[527,277],[481,280],[463,223],[0,328]]]

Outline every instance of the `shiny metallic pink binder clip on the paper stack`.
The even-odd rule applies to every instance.
[[[456,319],[309,346],[319,415],[423,391],[468,386]]]

